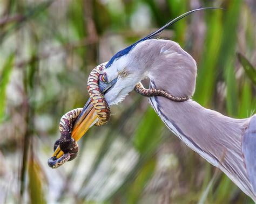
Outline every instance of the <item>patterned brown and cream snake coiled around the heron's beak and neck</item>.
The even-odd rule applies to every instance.
[[[87,90],[89,92],[89,96],[91,98],[91,102],[93,107],[96,110],[96,114],[98,116],[98,121],[95,125],[101,126],[109,122],[110,120],[110,108],[107,104],[104,95],[99,89],[99,76],[104,69],[105,64],[100,64],[95,67],[88,78],[87,81]],[[143,96],[163,96],[169,100],[176,101],[176,102],[183,102],[188,100],[188,97],[177,97],[173,96],[170,93],[166,92],[165,90],[160,89],[146,89],[143,87],[142,83],[138,83],[134,90]],[[79,116],[80,112],[82,112],[83,108],[77,108],[67,112],[65,115],[62,116],[59,122],[59,131],[60,131],[60,138],[56,140],[55,144],[53,145],[53,151],[56,150],[57,146],[59,145],[60,150],[64,152],[63,156],[60,158],[51,157],[48,159],[48,165],[51,168],[58,168],[59,166],[66,163],[66,161],[71,161],[77,157],[78,153],[78,144],[75,139],[72,138],[71,132],[73,129],[73,125],[77,117]]]

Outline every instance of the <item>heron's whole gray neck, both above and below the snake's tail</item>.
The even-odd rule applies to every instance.
[[[196,86],[194,59],[170,40],[145,40],[130,54],[131,71],[151,79],[151,87],[174,96],[192,96]],[[234,119],[193,100],[173,102],[150,97],[157,114],[185,144],[219,167],[242,191],[252,194],[243,160],[242,133],[250,118]],[[241,182],[245,181],[245,182]]]

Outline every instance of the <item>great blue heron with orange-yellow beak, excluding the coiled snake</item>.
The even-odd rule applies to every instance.
[[[179,97],[193,96],[196,61],[174,41],[153,39],[176,21],[116,53],[105,64],[99,88],[109,105],[121,102],[145,78],[150,79],[150,88]],[[256,201],[256,115],[234,119],[192,99],[174,102],[151,96],[149,103],[167,128]],[[72,131],[76,141],[98,121],[96,111],[89,99]],[[59,154],[57,149],[55,156]]]

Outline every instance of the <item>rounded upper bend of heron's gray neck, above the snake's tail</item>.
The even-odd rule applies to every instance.
[[[174,41],[145,40],[131,51],[130,61],[129,67],[136,67],[142,77],[146,74],[157,88],[174,96],[193,95],[196,61]]]

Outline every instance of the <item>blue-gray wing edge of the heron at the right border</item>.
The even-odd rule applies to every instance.
[[[248,177],[256,194],[256,115],[251,118],[244,132],[242,151],[245,157]]]

